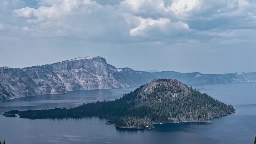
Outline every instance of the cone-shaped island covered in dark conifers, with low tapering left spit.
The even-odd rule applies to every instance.
[[[176,79],[154,79],[114,101],[84,103],[76,108],[13,110],[6,114],[29,119],[98,116],[114,120],[116,127],[150,129],[154,123],[208,122],[234,111],[231,104]]]

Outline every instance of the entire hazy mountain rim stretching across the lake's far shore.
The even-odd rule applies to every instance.
[[[139,86],[155,78],[175,78],[188,85],[256,82],[254,73],[201,74],[174,71],[144,72],[116,68],[102,57],[80,57],[26,68],[0,67],[0,100],[67,93],[71,90]]]

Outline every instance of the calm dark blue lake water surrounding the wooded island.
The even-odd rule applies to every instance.
[[[80,90],[68,94],[22,97],[0,102],[0,113],[9,110],[76,107],[86,102],[114,100],[136,87]],[[21,119],[0,116],[0,137],[7,144],[253,144],[256,136],[256,83],[193,86],[231,103],[236,113],[207,123],[156,124],[151,130],[116,128],[98,117]]]

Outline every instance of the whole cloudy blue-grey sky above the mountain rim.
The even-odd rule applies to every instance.
[[[255,0],[0,0],[0,66],[101,56],[134,70],[256,72]]]

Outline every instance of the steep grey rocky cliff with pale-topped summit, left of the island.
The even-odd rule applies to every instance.
[[[121,72],[102,57],[81,57],[23,69],[0,67],[0,100],[71,90],[109,89],[136,86],[119,82]]]

